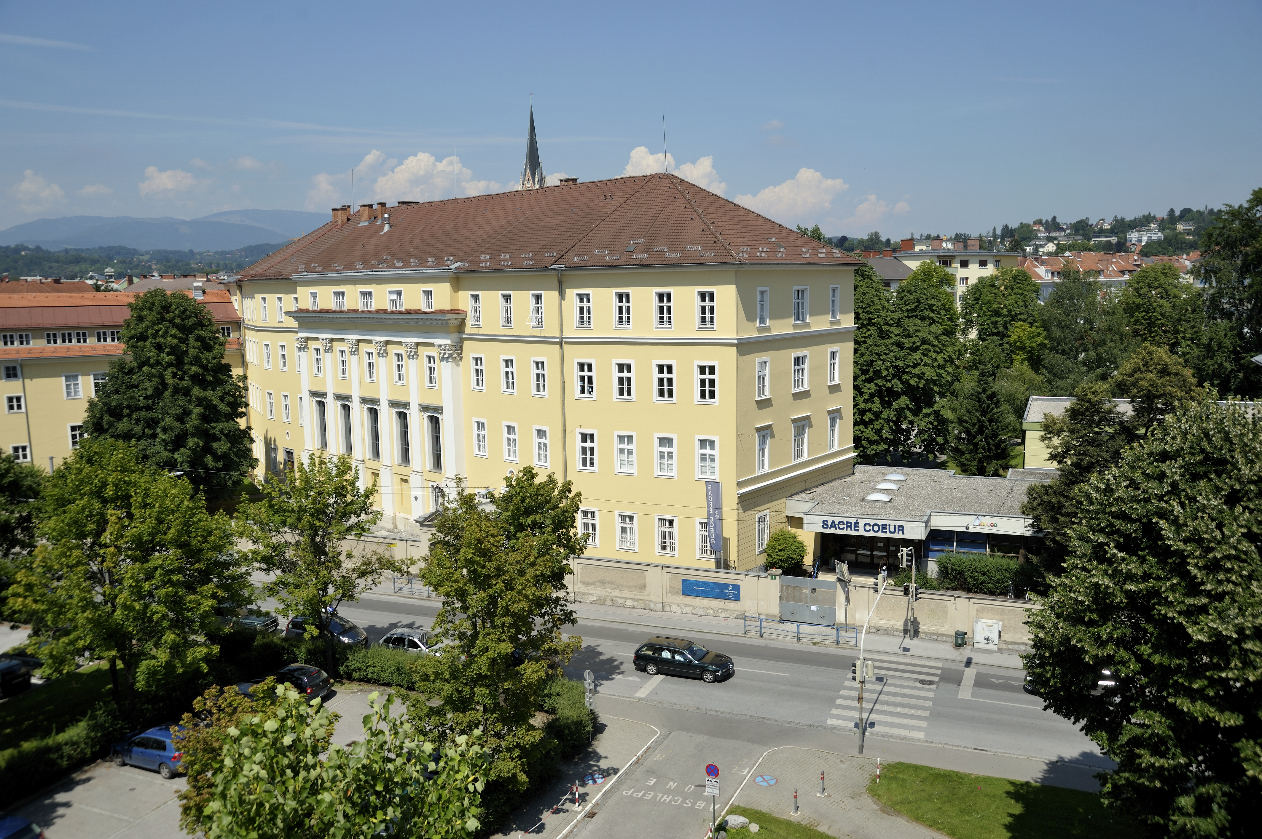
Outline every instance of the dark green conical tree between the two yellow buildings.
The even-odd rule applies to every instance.
[[[209,310],[187,294],[145,291],[122,324],[127,355],[110,362],[88,400],[83,431],[135,443],[144,458],[182,469],[197,487],[230,487],[254,467],[245,377],[223,357]]]

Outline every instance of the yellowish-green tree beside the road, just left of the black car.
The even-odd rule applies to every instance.
[[[543,746],[531,719],[548,681],[582,646],[562,635],[574,623],[569,561],[587,545],[581,496],[555,474],[535,478],[531,467],[507,477],[502,493],[487,493],[490,510],[462,487],[435,517],[420,578],[443,598],[430,633],[445,646],[418,669],[416,690],[442,704],[410,703],[428,730],[482,729],[488,780],[515,792]]]

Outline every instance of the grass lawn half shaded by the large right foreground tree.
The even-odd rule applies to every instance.
[[[1142,835],[1138,825],[1106,810],[1092,792],[915,763],[882,768],[881,783],[868,783],[877,801],[954,839]]]

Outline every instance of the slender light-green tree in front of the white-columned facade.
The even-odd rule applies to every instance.
[[[401,570],[380,550],[352,550],[356,541],[381,520],[372,508],[376,482],[360,488],[351,458],[313,454],[292,473],[262,486],[262,500],[237,511],[237,536],[250,545],[246,555],[271,574],[264,592],[280,603],[280,614],[302,614],[309,637],[322,637],[326,670],[337,672],[332,612],[381,582],[386,572]]]

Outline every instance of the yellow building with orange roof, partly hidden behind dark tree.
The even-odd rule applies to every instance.
[[[189,280],[186,294],[211,310],[241,372],[240,319],[227,291]],[[209,286],[209,283],[206,283]],[[0,445],[19,461],[56,468],[83,437],[87,401],[124,355],[122,322],[136,293],[0,294],[4,408]]]

